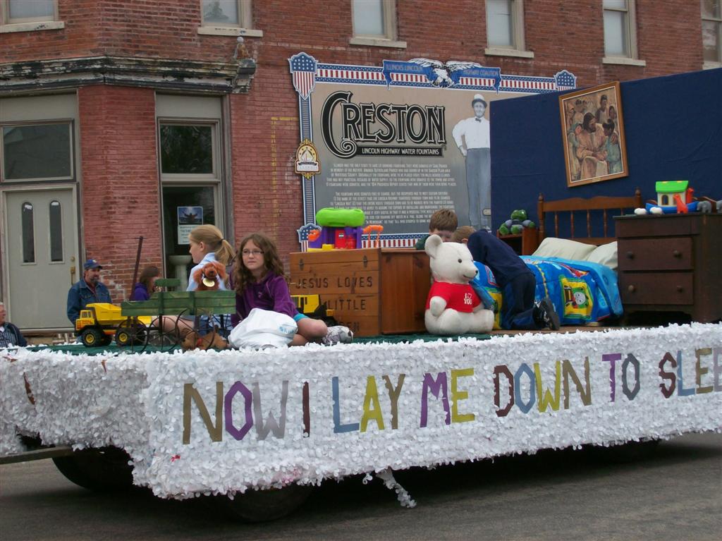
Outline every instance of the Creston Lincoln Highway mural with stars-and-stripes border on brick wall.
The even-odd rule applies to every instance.
[[[493,228],[493,102],[576,85],[567,71],[514,76],[473,61],[346,66],[298,53],[289,62],[300,140],[313,143],[320,166],[302,178],[302,249],[324,207],[362,209],[367,224],[383,225],[383,247],[413,246],[443,207],[459,225]]]

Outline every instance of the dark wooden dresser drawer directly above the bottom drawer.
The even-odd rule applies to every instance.
[[[692,269],[692,238],[619,239],[619,269],[686,270]]]

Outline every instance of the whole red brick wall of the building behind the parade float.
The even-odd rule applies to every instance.
[[[2,35],[0,62],[99,54],[228,61],[232,36],[199,35],[199,0],[58,0],[64,30]],[[258,68],[248,95],[231,95],[230,163],[237,241],[263,230],[282,253],[298,248],[302,225],[297,95],[288,62],[305,51],[323,62],[380,65],[418,56],[473,60],[505,74],[553,75],[569,69],[580,87],[689,72],[702,67],[697,1],[637,1],[638,50],[646,66],[602,64],[599,0],[526,0],[526,46],[534,59],[484,56],[481,0],[397,0],[406,49],[349,46],[349,1],[257,0],[247,38]],[[303,5],[303,9],[301,6]],[[105,280],[116,300],[129,287],[138,235],[144,262],[160,263],[160,216],[152,90],[92,86],[79,90],[84,243],[88,256],[111,261]],[[124,296],[124,295],[121,295]]]

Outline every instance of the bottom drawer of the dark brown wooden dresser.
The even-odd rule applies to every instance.
[[[619,294],[626,304],[692,304],[691,272],[622,272]]]

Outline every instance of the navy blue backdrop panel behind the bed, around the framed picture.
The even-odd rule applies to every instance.
[[[514,209],[538,221],[540,192],[547,200],[632,196],[638,187],[645,201],[656,199],[656,181],[688,180],[695,195],[722,199],[722,69],[622,82],[620,90],[630,175],[572,188],[559,111],[559,96],[570,92],[493,103],[494,228]]]

